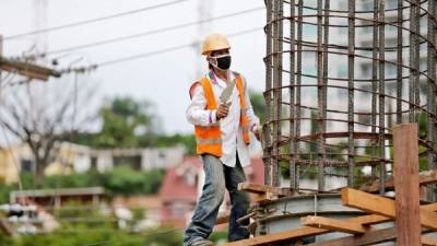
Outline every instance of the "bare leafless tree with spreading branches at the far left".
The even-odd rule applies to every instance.
[[[28,144],[36,179],[55,157],[55,143],[70,139],[93,120],[88,108],[95,87],[57,81],[8,87],[1,96],[0,126]]]

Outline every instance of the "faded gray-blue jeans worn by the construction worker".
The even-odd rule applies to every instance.
[[[185,232],[184,246],[189,246],[196,241],[210,236],[217,218],[218,208],[223,202],[225,188],[229,192],[232,204],[227,239],[234,242],[248,238],[249,232],[236,222],[238,218],[246,215],[250,203],[249,196],[237,189],[238,183],[246,181],[245,172],[238,156],[235,167],[224,165],[218,157],[210,154],[203,154],[202,161],[205,183],[194,214]],[[248,225],[248,223],[247,220],[241,225]]]

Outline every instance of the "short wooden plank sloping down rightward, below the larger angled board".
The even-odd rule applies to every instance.
[[[354,223],[344,220],[335,220],[331,218],[323,216],[305,216],[300,218],[300,223],[303,225],[326,229],[334,232],[343,232],[351,234],[363,234],[367,230],[359,223]]]

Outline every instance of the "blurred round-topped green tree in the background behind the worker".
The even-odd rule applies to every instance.
[[[259,98],[261,96],[261,98]],[[256,104],[263,98],[256,94]],[[258,110],[258,109],[256,109]],[[116,97],[99,110],[103,122],[97,133],[83,132],[75,143],[93,148],[168,148],[184,145],[188,154],[196,154],[194,136],[163,134],[157,128],[158,117],[150,102],[138,102],[131,97]]]

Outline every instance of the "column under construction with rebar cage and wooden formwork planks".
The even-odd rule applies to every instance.
[[[265,184],[227,245],[436,245],[437,1],[264,2]]]

